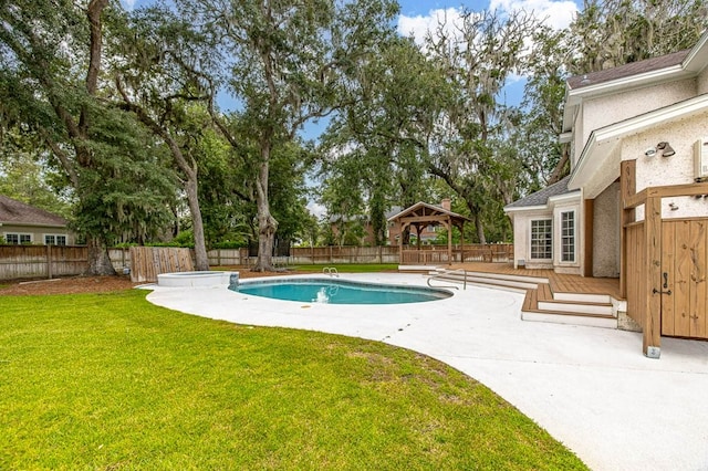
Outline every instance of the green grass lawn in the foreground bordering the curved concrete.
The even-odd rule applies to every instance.
[[[585,469],[423,355],[145,294],[0,296],[0,469]]]

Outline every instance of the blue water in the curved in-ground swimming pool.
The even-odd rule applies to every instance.
[[[247,282],[229,290],[275,300],[329,304],[423,303],[451,296],[444,290],[321,279]]]

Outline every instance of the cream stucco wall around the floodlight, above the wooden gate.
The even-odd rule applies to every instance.
[[[660,128],[628,137],[622,146],[622,159],[636,159],[636,189],[668,185],[691,184],[694,181],[694,144],[699,138],[708,138],[708,112],[687,119],[667,123]],[[668,142],[676,154],[671,157],[646,157],[645,150],[659,142]],[[677,209],[671,209],[670,205]],[[689,218],[708,216],[708,198],[664,198],[662,217]],[[637,208],[637,220],[644,219],[644,207]]]

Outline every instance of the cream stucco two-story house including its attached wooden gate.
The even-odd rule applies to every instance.
[[[708,338],[708,33],[569,78],[560,139],[570,176],[504,208],[514,265],[618,278],[648,356]]]

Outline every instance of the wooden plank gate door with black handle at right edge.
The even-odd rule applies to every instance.
[[[662,335],[708,338],[708,219],[662,221]]]

